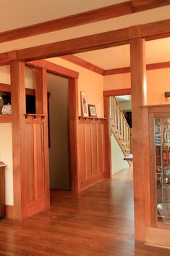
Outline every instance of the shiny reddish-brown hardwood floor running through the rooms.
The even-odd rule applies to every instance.
[[[0,255],[169,255],[135,244],[132,198],[132,180],[103,180],[79,194],[51,191],[49,209],[22,222],[1,220]]]

